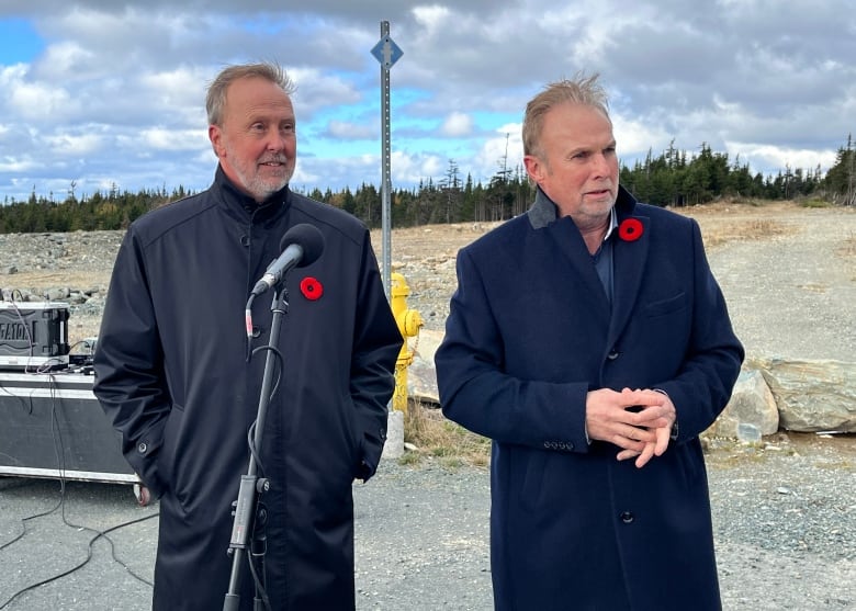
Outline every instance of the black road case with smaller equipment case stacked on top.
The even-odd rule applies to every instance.
[[[68,304],[0,302],[0,476],[132,484],[149,500],[92,393],[94,339],[68,344]]]

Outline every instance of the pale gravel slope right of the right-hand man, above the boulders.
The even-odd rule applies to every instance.
[[[727,211],[697,218],[751,231],[708,253],[747,354],[856,361],[856,208]]]

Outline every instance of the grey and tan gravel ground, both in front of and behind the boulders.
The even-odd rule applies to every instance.
[[[687,213],[710,240],[711,265],[751,355],[856,360],[856,211]],[[393,262],[426,328],[442,329],[457,249],[491,227],[394,234]],[[87,290],[94,296],[72,307],[69,332],[97,335],[117,237],[0,236],[0,287]],[[15,274],[8,273],[12,264]],[[782,432],[759,445],[712,440],[707,459],[724,608],[856,610],[854,435]],[[360,610],[492,608],[485,469],[385,461],[374,479],[354,486],[354,499]],[[150,587],[133,574],[151,579],[157,503],[140,508],[129,487],[92,483],[69,483],[61,500],[34,517],[57,507],[59,484],[0,480],[0,610],[148,609]],[[109,534],[112,548],[87,530],[137,519],[145,521]]]

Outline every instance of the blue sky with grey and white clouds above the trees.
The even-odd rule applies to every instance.
[[[292,185],[380,186],[382,20],[404,52],[394,188],[519,166],[527,100],[581,70],[610,92],[627,165],[674,140],[825,171],[856,133],[849,0],[0,0],[0,203],[204,189],[205,87],[259,59],[297,82]]]

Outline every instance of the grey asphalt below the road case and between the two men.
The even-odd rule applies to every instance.
[[[486,471],[384,463],[354,503],[358,609],[492,609]],[[128,485],[0,478],[0,610],[150,609],[157,510]]]

